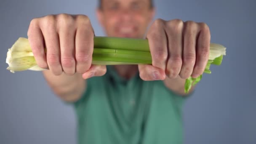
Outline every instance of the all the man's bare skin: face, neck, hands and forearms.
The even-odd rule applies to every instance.
[[[115,66],[120,76],[129,79],[139,70],[142,80],[163,80],[167,88],[185,95],[185,79],[201,75],[207,64],[209,27],[179,19],[156,19],[150,24],[154,15],[149,0],[102,0],[96,10],[108,36],[149,40],[152,65]],[[77,101],[86,89],[86,79],[106,73],[106,66],[91,65],[94,36],[85,15],[48,15],[32,19],[29,25],[37,64],[49,69],[43,75],[64,101]]]

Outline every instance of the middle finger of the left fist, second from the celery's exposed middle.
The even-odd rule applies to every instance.
[[[75,74],[75,26],[72,19],[59,24],[61,66],[67,75]]]

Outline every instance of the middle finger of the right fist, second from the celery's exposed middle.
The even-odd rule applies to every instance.
[[[182,37],[183,21],[173,21],[172,25],[167,28],[168,35],[168,61],[166,66],[166,75],[169,78],[176,78],[182,65]]]

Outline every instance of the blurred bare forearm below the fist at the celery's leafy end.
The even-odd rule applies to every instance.
[[[195,86],[192,86],[189,92],[185,93],[184,92],[185,82],[186,82],[186,79],[182,79],[181,77],[179,77],[179,75],[174,79],[166,77],[164,80],[164,84],[167,88],[169,88],[171,91],[181,96],[187,96],[195,89]]]

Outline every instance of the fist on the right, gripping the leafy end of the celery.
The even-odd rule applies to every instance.
[[[210,38],[205,23],[157,19],[147,33],[152,65],[139,65],[141,79],[198,77],[208,61]]]

